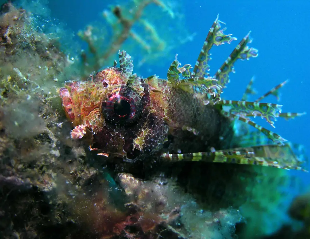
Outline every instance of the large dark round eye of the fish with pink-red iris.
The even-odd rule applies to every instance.
[[[101,102],[104,118],[111,123],[132,123],[142,113],[142,99],[131,87],[121,86],[108,93]]]

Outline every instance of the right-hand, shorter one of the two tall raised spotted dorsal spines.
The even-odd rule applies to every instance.
[[[223,88],[226,88],[226,85],[229,83],[229,73],[235,72],[233,64],[237,59],[249,60],[251,57],[258,56],[258,50],[255,48],[249,48],[247,46],[252,40],[250,39],[250,32],[240,41],[236,48],[232,51],[223,65],[215,73],[214,78],[219,81],[219,85]]]

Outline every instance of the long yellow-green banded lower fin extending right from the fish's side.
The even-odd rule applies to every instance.
[[[229,163],[229,164],[248,164],[274,167],[279,169],[296,169],[303,170],[298,165],[282,165],[281,159],[268,157],[256,157],[254,152],[249,151],[215,151],[215,152],[198,152],[186,154],[162,154],[162,158],[168,161],[201,161],[206,163]]]

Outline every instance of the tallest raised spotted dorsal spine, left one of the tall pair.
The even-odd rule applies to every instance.
[[[193,77],[204,77],[209,76],[208,71],[210,70],[210,66],[208,65],[210,58],[210,49],[213,45],[219,46],[224,43],[231,43],[233,40],[237,40],[236,37],[231,37],[232,34],[224,34],[226,28],[220,30],[221,25],[219,21],[219,16],[215,19],[214,23],[212,24],[208,35],[206,37],[205,42],[203,43],[202,49],[199,53],[197,62],[194,66],[193,70]],[[224,23],[225,24],[225,23]]]

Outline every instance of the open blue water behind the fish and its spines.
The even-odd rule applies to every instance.
[[[87,24],[95,20],[104,21],[102,11],[109,4],[116,1],[61,1],[54,0],[48,3],[51,16],[66,23],[72,32],[84,29]],[[238,61],[235,64],[235,74],[231,74],[225,99],[240,100],[246,85],[252,76],[255,76],[254,88],[258,94],[251,98],[255,100],[277,84],[289,79],[289,83],[281,89],[282,112],[304,112],[308,114],[286,121],[278,118],[275,129],[263,120],[255,122],[279,133],[285,139],[294,143],[303,144],[309,154],[310,135],[310,1],[282,0],[282,1],[177,1],[183,5],[186,25],[191,33],[196,32],[193,41],[187,42],[167,55],[165,67],[153,67],[138,72],[143,76],[157,74],[166,76],[175,53],[182,64],[194,65],[206,38],[211,24],[217,14],[219,19],[227,23],[228,33],[238,38],[230,45],[212,49],[211,75],[221,66],[228,54],[249,31],[253,42],[250,47],[259,50],[259,57],[249,61]],[[167,18],[168,19],[168,18]],[[173,27],[173,22],[165,24]],[[161,34],[165,34],[162,32]],[[175,37],[175,36],[171,36]],[[185,37],[185,36],[184,36]],[[78,40],[78,38],[76,37]],[[133,55],[135,53],[131,53]],[[277,103],[275,97],[269,96],[263,102]],[[292,172],[296,173],[296,172]],[[297,173],[304,181],[310,176],[306,173]]]

